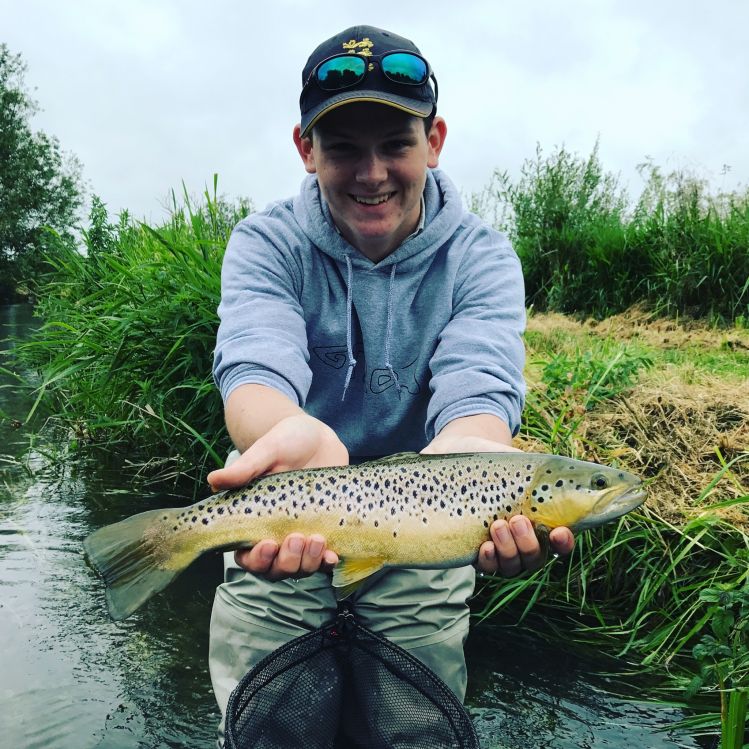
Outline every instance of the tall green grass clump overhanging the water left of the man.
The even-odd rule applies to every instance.
[[[73,434],[137,445],[193,475],[228,447],[211,358],[221,259],[249,208],[219,200],[215,183],[204,197],[197,208],[175,199],[157,227],[110,224],[94,201],[85,254],[57,244],[37,284],[45,322],[17,349],[40,373],[34,408],[44,401]]]

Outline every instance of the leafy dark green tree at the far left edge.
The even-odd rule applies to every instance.
[[[45,227],[69,237],[82,202],[80,162],[29,126],[39,107],[26,70],[21,55],[0,44],[0,303],[44,263]]]

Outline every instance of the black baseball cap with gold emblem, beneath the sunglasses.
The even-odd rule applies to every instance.
[[[332,109],[351,102],[379,102],[415,117],[429,117],[437,109],[435,90],[429,76],[422,85],[405,85],[387,78],[379,65],[369,66],[366,74],[354,86],[338,91],[325,91],[311,76],[320,63],[341,54],[361,55],[377,59],[388,52],[413,52],[421,57],[419,48],[410,40],[375,26],[352,26],[320,44],[309,56],[302,71],[302,137]]]

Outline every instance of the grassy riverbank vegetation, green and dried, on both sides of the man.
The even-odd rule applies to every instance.
[[[516,184],[498,175],[473,198],[528,279],[518,444],[649,484],[642,511],[530,577],[483,579],[473,606],[651,670],[657,695],[699,708],[693,730],[715,730],[722,706],[732,749],[749,689],[749,199],[647,173],[630,206],[595,151],[539,151]],[[229,447],[210,376],[221,257],[250,209],[215,181],[158,226],[94,201],[85,248],[59,238],[36,288],[43,324],[20,347],[34,411],[202,495]]]

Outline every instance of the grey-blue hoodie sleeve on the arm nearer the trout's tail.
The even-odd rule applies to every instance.
[[[256,214],[232,232],[221,268],[213,377],[226,402],[239,385],[268,385],[303,406],[312,375],[289,229]]]

